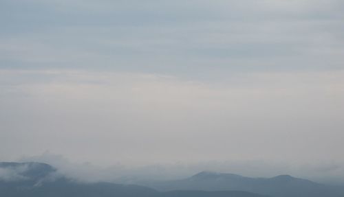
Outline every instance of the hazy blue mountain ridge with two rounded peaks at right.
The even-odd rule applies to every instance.
[[[314,183],[289,175],[272,178],[249,178],[237,174],[200,172],[189,178],[178,181],[164,181],[147,184],[160,191],[172,190],[205,190],[223,191],[238,190],[265,194],[275,197],[343,197],[344,188]]]

